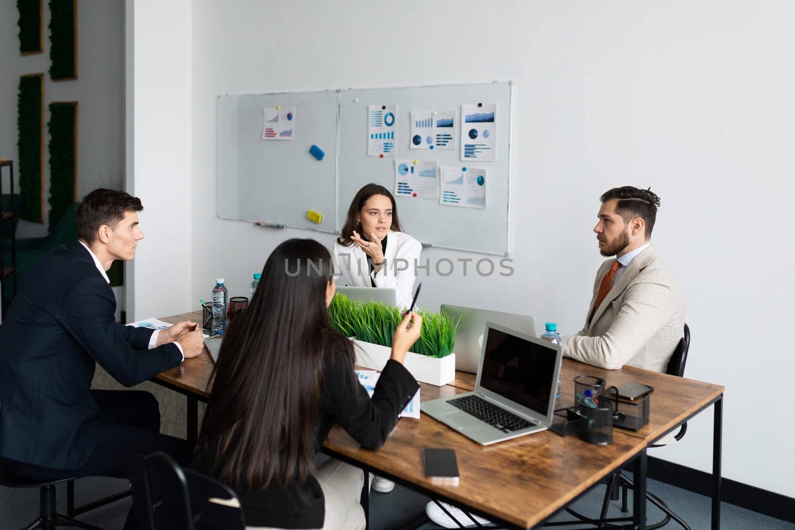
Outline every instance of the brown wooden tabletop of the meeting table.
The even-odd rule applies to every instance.
[[[176,323],[185,319],[199,322],[201,312],[162,320]],[[212,359],[204,350],[196,358],[158,374],[157,379],[207,400],[212,368]],[[613,443],[607,446],[543,431],[484,447],[422,414],[420,420],[407,418],[398,422],[378,451],[359,447],[339,426],[332,429],[324,448],[338,458],[360,462],[444,500],[467,505],[518,527],[532,528],[723,393],[722,386],[664,373],[629,366],[606,370],[564,359],[559,406],[573,402],[573,378],[577,375],[604,377],[607,385],[626,381],[650,385],[654,389],[650,423],[638,432],[614,429]],[[444,387],[421,383],[421,400],[463,393],[474,387],[475,374],[456,372],[456,380]],[[438,486],[425,478],[423,447],[455,447],[460,486]]]

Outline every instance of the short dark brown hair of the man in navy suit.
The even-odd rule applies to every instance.
[[[124,191],[97,188],[83,197],[77,207],[77,238],[91,246],[96,241],[99,227],[107,225],[111,230],[124,219],[127,211],[142,211],[141,199]]]

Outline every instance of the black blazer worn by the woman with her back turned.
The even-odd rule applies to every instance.
[[[419,385],[409,371],[399,362],[390,360],[378,377],[370,399],[359,384],[351,360],[344,353],[328,352],[324,360],[323,389],[316,420],[316,451],[320,451],[335,423],[339,423],[362,447],[378,449],[397,424],[397,415],[409,404],[417,389]],[[206,451],[196,454],[191,467],[217,478],[223,465],[223,460],[215,459],[217,449],[216,440]],[[323,490],[314,477],[304,482],[291,482],[286,488],[275,484],[258,491],[238,487],[235,493],[248,526],[323,528]]]

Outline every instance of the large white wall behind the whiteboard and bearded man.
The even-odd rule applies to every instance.
[[[186,0],[173,3],[181,7]],[[158,14],[176,25],[169,29],[178,33],[181,53],[188,30],[172,7],[166,11]],[[579,330],[602,260],[591,233],[598,197],[616,185],[651,186],[662,198],[653,241],[687,295],[688,377],[727,386],[724,476],[795,497],[789,480],[795,429],[779,408],[789,404],[795,371],[787,336],[795,295],[787,215],[795,191],[793,15],[795,5],[786,0],[358,0],[344,7],[196,0],[192,91],[181,92],[180,100],[192,99],[192,114],[176,105],[177,91],[185,88],[184,65],[176,62],[179,75],[153,72],[169,78],[169,84],[157,80],[176,111],[159,104],[142,110],[138,92],[135,98],[135,189],[147,201],[138,179],[149,183],[147,193],[157,187],[138,164],[158,168],[173,156],[184,164],[182,138],[169,126],[179,144],[175,155],[173,141],[163,141],[161,118],[179,119],[180,134],[192,126],[192,231],[181,231],[179,196],[168,201],[169,207],[179,203],[176,211],[157,214],[180,242],[192,234],[192,248],[180,243],[179,270],[169,269],[174,285],[166,292],[176,298],[159,297],[164,304],[185,300],[179,311],[196,308],[192,295],[207,296],[219,275],[231,293],[244,294],[250,274],[262,269],[278,242],[313,237],[215,217],[217,95],[512,79],[516,272],[510,278],[432,276],[422,304],[525,311],[556,321],[564,332]],[[415,25],[429,24],[432,34],[417,37]],[[382,28],[378,46],[371,44],[374,25]],[[150,37],[137,29],[136,35],[162,38],[168,45],[160,54],[172,52],[172,34]],[[425,50],[445,50],[445,59]],[[138,56],[135,64],[138,89],[149,65]],[[144,157],[138,141],[149,135]],[[162,250],[141,253],[137,268],[145,264],[149,273],[165,276],[160,267],[175,253]],[[424,255],[477,257],[438,249]],[[192,271],[188,289],[184,270]],[[653,454],[710,470],[711,440],[710,410],[691,422],[681,445]]]

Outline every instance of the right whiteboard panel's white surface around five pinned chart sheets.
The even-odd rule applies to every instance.
[[[442,206],[436,200],[395,197],[401,227],[425,246],[478,253],[508,253],[510,204],[509,83],[484,83],[436,87],[347,90],[339,103],[339,211],[338,230],[356,191],[374,182],[395,188],[394,160],[435,160],[440,166],[485,168],[486,209]],[[461,106],[496,103],[496,158],[493,162],[461,161]],[[397,105],[395,158],[367,156],[367,107]],[[455,149],[409,149],[412,110],[456,110]],[[440,175],[437,172],[437,179]]]

